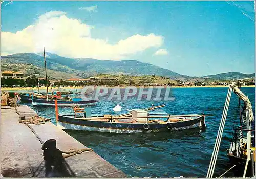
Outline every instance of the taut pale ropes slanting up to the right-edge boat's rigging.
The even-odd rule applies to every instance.
[[[219,148],[220,148],[222,133],[224,130],[225,121],[226,121],[226,117],[227,117],[227,111],[228,111],[229,102],[230,102],[230,98],[231,98],[231,93],[232,93],[231,91],[232,91],[232,84],[230,84],[229,88],[228,88],[228,93],[227,93],[227,98],[226,98],[226,102],[224,105],[224,110],[222,113],[221,123],[219,126],[218,134],[217,134],[216,141],[215,141],[214,151],[212,152],[212,155],[211,155],[211,161],[210,161],[209,169],[208,169],[207,176],[206,176],[207,178],[212,178],[212,176],[214,175],[214,170],[215,170],[215,165],[216,165],[218,152],[219,152]]]

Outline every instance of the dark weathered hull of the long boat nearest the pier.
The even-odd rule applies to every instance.
[[[70,116],[58,115],[57,126],[61,129],[97,131],[109,133],[150,133],[160,131],[175,131],[202,127],[202,117],[184,122],[171,122],[172,128],[168,128],[167,123],[147,123],[148,129],[144,129],[145,123],[129,122],[107,122],[79,119]]]

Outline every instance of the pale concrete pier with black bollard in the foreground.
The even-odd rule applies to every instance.
[[[28,106],[19,106],[16,109],[25,118],[35,114]],[[55,139],[57,148],[61,151],[87,148],[51,122],[30,126],[42,141]],[[31,129],[19,123],[19,115],[15,108],[1,108],[1,174],[4,177],[51,176],[51,172],[46,170],[41,148],[41,143]],[[93,151],[65,158],[59,167],[59,177],[126,177],[122,171]]]

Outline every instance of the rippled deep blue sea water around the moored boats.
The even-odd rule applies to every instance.
[[[147,108],[166,104],[168,113],[213,114],[206,117],[206,131],[191,129],[163,133],[111,134],[86,131],[66,131],[75,139],[92,148],[97,154],[122,170],[128,176],[138,177],[206,177],[212,150],[214,148],[220,119],[227,95],[227,87],[218,88],[172,88],[174,101],[138,101],[137,97],[127,101],[108,101],[101,98],[94,114],[115,114],[113,108],[119,104],[121,113],[127,109]],[[242,88],[248,95],[254,109],[255,88]],[[39,115],[50,117],[56,124],[54,107],[33,107]],[[221,147],[214,177],[220,176],[229,166],[226,149],[233,126],[239,125],[238,97],[232,93]],[[70,107],[59,107],[59,112],[70,112]],[[233,176],[228,172],[225,176]]]

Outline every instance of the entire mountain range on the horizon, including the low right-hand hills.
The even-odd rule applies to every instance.
[[[183,81],[193,78],[181,75],[172,70],[160,68],[149,63],[142,63],[137,60],[97,60],[92,58],[66,58],[57,54],[46,52],[48,75],[53,79],[63,79],[63,77],[86,78],[96,74],[127,74],[133,76],[158,75]],[[44,76],[44,54],[43,53],[18,53],[1,56],[2,71],[16,70],[25,73],[25,76],[39,74]],[[55,74],[55,75],[53,75]],[[253,74],[243,74],[239,72],[228,72],[216,75],[207,75],[201,79],[229,80],[234,78],[255,77]]]

